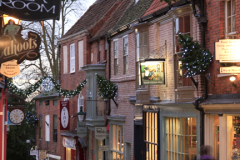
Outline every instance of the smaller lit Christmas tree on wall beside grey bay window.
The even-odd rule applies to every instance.
[[[114,99],[114,97],[117,95],[117,85],[98,74],[96,74],[96,76],[99,95],[103,99],[112,99],[116,106],[118,106],[117,102]]]

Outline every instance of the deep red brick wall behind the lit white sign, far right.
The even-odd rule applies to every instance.
[[[240,2],[236,1],[236,35],[235,38],[239,39],[240,17],[238,14]],[[232,86],[229,81],[229,76],[218,77],[220,74],[220,63],[215,60],[215,42],[225,38],[225,1],[206,1],[206,16],[208,18],[206,30],[206,48],[214,55],[214,60],[207,70],[210,73],[211,80],[208,83],[209,94],[229,94],[239,93],[240,87]],[[237,63],[239,66],[240,63]],[[236,84],[239,84],[240,76],[236,76]]]

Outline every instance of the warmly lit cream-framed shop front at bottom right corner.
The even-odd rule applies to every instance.
[[[238,99],[218,98],[210,97],[201,104],[205,112],[204,142],[205,145],[212,147],[212,155],[216,160],[238,160],[240,159],[240,102]]]

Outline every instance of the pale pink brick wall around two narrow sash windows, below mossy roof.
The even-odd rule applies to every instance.
[[[131,159],[134,158],[134,104],[129,103],[129,96],[135,93],[135,33],[128,34],[128,73],[123,74],[123,38],[118,38],[118,75],[113,73],[113,42],[111,44],[111,81],[118,85],[118,107],[111,102],[111,114],[125,115],[124,141],[131,142]]]

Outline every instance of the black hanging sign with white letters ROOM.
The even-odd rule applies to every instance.
[[[59,20],[61,0],[1,0],[0,12],[12,17],[39,21]]]

